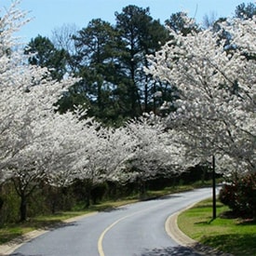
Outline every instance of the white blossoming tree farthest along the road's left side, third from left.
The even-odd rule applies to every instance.
[[[141,196],[145,193],[145,182],[183,170],[182,147],[170,140],[170,131],[164,128],[156,116],[154,120],[141,117],[126,125],[128,140],[133,144],[121,174],[123,181],[138,183]]]

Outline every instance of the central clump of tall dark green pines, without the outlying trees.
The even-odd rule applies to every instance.
[[[61,113],[84,104],[88,115],[120,126],[142,112],[155,111],[155,81],[143,67],[148,67],[146,56],[166,43],[168,31],[153,20],[149,8],[124,7],[115,17],[115,26],[94,19],[73,36],[75,75],[82,79],[59,101]],[[157,89],[165,96],[171,91],[161,83]]]

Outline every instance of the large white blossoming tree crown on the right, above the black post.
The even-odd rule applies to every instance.
[[[173,40],[149,57],[149,73],[180,91],[168,116],[187,152],[199,161],[219,158],[222,170],[255,171],[255,17],[229,20],[222,39],[210,29]],[[193,20],[188,20],[193,22]]]

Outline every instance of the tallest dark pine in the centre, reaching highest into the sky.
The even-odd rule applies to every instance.
[[[143,66],[147,66],[145,56],[165,44],[168,32],[159,20],[153,20],[149,7],[130,5],[121,13],[115,12],[115,17],[116,28],[126,46],[126,54],[120,59],[120,64],[128,77],[130,116],[138,116],[149,110],[151,82],[150,75],[143,72]]]

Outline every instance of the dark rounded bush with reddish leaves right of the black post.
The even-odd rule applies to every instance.
[[[225,184],[220,192],[220,200],[237,216],[256,218],[256,173]]]

